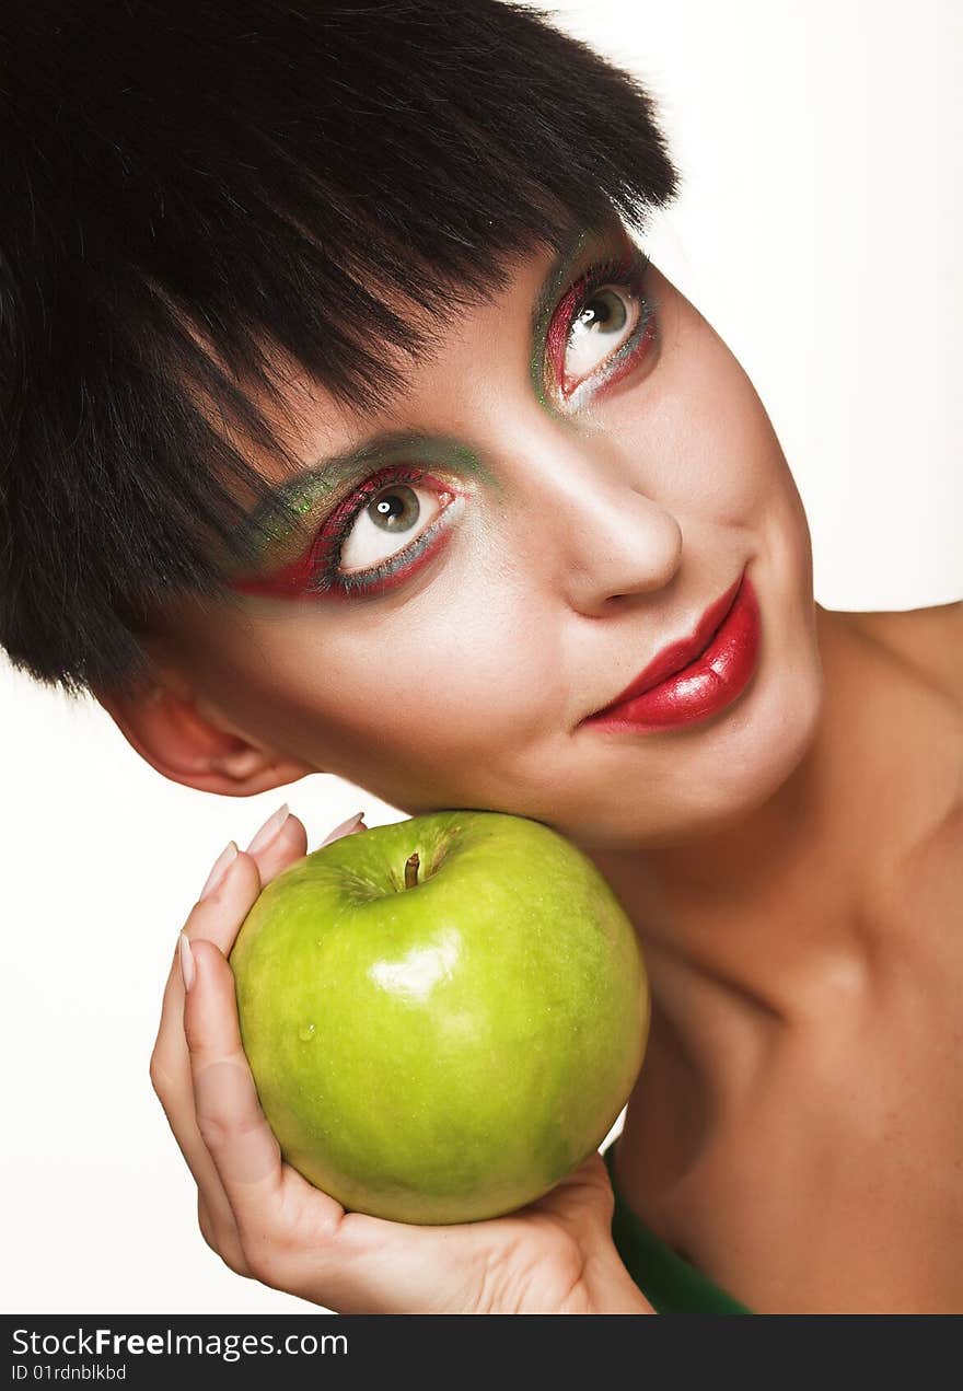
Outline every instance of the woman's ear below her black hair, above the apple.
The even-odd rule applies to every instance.
[[[186,787],[252,797],[321,771],[250,739],[173,672],[159,670],[135,691],[95,694],[128,744]]]

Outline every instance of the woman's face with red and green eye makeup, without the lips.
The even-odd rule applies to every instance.
[[[809,531],[713,328],[637,253],[626,264],[618,227],[573,246],[443,323],[390,412],[360,424],[312,395],[312,472],[264,527],[242,602],[184,606],[171,643],[237,727],[406,814],[669,843],[758,805],[813,734]],[[376,433],[394,438],[344,462]],[[738,698],[655,730],[584,723],[743,572],[761,643]]]

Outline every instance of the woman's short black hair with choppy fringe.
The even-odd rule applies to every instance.
[[[639,82],[529,6],[3,6],[13,664],[68,694],[127,686],[141,620],[225,597],[214,556],[252,559],[239,522],[264,497],[244,440],[284,456],[255,405],[278,351],[383,406],[387,349],[416,362],[431,314],[572,224],[644,225],[676,182]]]

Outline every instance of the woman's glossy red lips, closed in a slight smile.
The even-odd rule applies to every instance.
[[[706,609],[690,638],[662,648],[611,705],[584,723],[637,732],[708,719],[749,684],[760,637],[758,600],[743,573]]]

